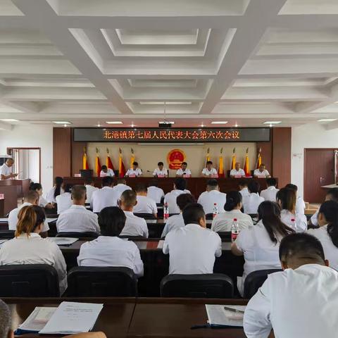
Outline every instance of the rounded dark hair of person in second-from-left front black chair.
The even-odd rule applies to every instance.
[[[117,206],[107,206],[99,213],[102,236],[118,236],[125,226],[125,213]]]

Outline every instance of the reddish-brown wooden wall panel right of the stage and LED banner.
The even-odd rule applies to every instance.
[[[278,186],[291,182],[291,128],[273,128],[273,176]]]

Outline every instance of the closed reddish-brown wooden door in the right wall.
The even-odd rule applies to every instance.
[[[334,149],[304,149],[304,200],[322,203],[325,189],[334,183]]]

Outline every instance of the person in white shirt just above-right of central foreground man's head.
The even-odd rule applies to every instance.
[[[227,194],[220,192],[220,187],[215,179],[208,180],[206,183],[206,192],[199,195],[197,203],[201,204],[204,208],[206,215],[213,213],[213,208],[216,204],[218,213],[223,213]]]

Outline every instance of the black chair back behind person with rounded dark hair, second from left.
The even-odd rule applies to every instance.
[[[80,266],[68,273],[67,296],[137,296],[137,277],[130,268]]]

